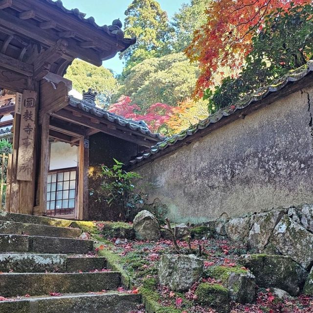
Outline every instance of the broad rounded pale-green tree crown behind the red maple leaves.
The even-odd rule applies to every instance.
[[[176,106],[190,97],[198,72],[197,64],[190,64],[183,53],[151,58],[130,70],[114,99],[129,95],[142,110],[153,103]]]

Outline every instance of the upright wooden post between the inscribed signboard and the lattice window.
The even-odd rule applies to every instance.
[[[46,212],[47,207],[47,180],[50,164],[49,145],[49,121],[50,115],[45,114],[41,126],[41,158],[40,158],[40,184],[39,184],[39,208],[41,214]]]

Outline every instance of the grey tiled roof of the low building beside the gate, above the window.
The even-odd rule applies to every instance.
[[[153,134],[149,130],[148,125],[144,121],[137,122],[132,119],[125,118],[123,116],[98,108],[94,104],[91,104],[85,100],[79,100],[72,96],[69,96],[69,106],[76,109],[80,109],[84,112],[91,113],[96,117],[105,118],[112,123],[116,123],[120,126],[127,127],[134,132],[139,132],[141,134],[148,135],[152,138],[159,139],[160,141],[165,140],[167,138],[162,136],[161,134]]]

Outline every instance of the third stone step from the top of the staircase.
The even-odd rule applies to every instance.
[[[92,240],[0,234],[0,252],[87,254],[92,248]]]

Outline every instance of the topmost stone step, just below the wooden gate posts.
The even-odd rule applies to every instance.
[[[40,224],[59,227],[67,227],[73,222],[67,219],[55,219],[46,216],[34,216],[11,212],[0,212],[0,221],[18,222],[26,224]]]

